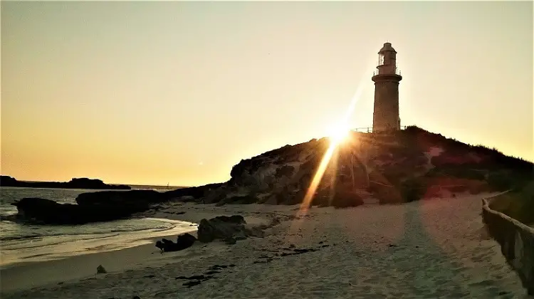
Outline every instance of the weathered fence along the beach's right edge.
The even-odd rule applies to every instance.
[[[482,199],[482,219],[486,229],[501,246],[506,262],[518,273],[528,295],[534,295],[534,229],[492,210],[488,199]]]

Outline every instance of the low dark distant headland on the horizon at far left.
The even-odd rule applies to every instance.
[[[86,177],[73,178],[69,182],[23,182],[6,175],[0,176],[1,187],[24,187],[24,188],[61,188],[61,189],[122,189],[130,190],[127,185],[105,184],[100,179],[88,179]]]

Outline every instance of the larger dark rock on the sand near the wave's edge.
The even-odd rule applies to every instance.
[[[262,237],[263,231],[258,228],[246,227],[243,216],[216,216],[212,219],[202,219],[199,224],[199,241],[208,243],[216,239],[226,243],[235,243],[234,240],[248,236]],[[232,240],[234,239],[234,240]]]

